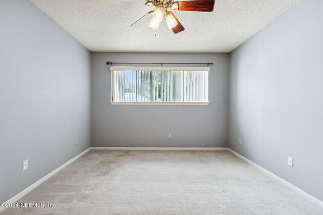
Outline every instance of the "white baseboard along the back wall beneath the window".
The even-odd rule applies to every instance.
[[[91,147],[91,150],[142,150],[142,151],[226,151],[227,148],[177,148],[177,147]]]

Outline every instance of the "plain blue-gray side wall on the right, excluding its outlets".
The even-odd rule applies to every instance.
[[[231,54],[229,114],[231,149],[320,200],[322,10],[303,0]]]

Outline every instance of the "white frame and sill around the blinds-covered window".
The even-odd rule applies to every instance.
[[[207,71],[205,73],[205,97],[207,102],[113,102],[113,78],[111,73],[111,90],[110,90],[110,104],[111,105],[208,105],[208,73],[209,67],[139,67],[139,66],[111,66],[110,71],[122,70],[141,70],[141,71]]]

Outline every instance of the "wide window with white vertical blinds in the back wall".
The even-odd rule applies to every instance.
[[[110,70],[111,104],[208,104],[209,67]]]

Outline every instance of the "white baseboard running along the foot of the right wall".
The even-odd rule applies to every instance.
[[[304,197],[305,197],[305,198],[307,198],[309,201],[311,201],[311,202],[313,202],[313,203],[315,203],[315,204],[317,204],[317,205],[319,205],[319,206],[323,207],[323,202],[322,202],[322,201],[320,201],[320,200],[318,200],[317,198],[315,198],[315,197],[311,196],[310,194],[306,193],[305,191],[303,191],[303,190],[299,189],[298,187],[296,187],[296,186],[292,185],[291,183],[289,183],[289,182],[285,181],[284,179],[282,179],[282,178],[278,177],[278,176],[277,176],[277,175],[275,175],[274,173],[272,173],[272,172],[270,172],[270,171],[268,171],[268,170],[266,170],[266,169],[264,169],[264,168],[260,167],[259,165],[257,165],[257,164],[255,164],[255,163],[253,163],[252,161],[250,161],[249,159],[247,159],[247,158],[243,157],[242,155],[240,155],[240,154],[236,153],[236,152],[235,152],[235,151],[233,151],[232,149],[227,148],[227,150],[228,150],[229,152],[231,152],[233,155],[237,156],[238,158],[240,158],[240,159],[244,160],[245,162],[247,162],[247,163],[251,164],[252,166],[254,166],[255,168],[257,168],[257,169],[258,169],[258,170],[260,170],[261,172],[265,173],[266,175],[268,175],[268,176],[272,177],[273,179],[275,179],[275,180],[279,181],[280,183],[284,184],[284,185],[285,185],[285,186],[287,186],[288,188],[290,188],[290,189],[294,190],[294,191],[295,191],[295,192],[297,192],[298,194],[300,194],[300,195],[304,196]]]

